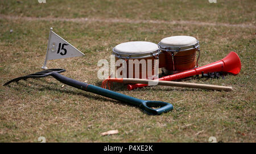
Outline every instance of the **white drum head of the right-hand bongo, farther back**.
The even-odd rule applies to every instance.
[[[165,47],[186,47],[186,46],[192,46],[196,45],[198,41],[196,40],[195,37],[192,36],[171,36],[171,37],[166,37],[163,38],[160,42],[159,45],[160,47],[165,46]]]

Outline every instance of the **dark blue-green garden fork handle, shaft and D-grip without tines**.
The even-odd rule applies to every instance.
[[[68,78],[66,76],[63,76],[63,75],[61,75],[57,72],[53,72],[51,74],[51,76],[53,76],[53,78],[59,80],[59,82],[70,85],[72,87],[79,88],[79,89],[82,89],[84,91],[96,93],[96,94],[101,95],[101,96],[109,97],[110,99],[114,99],[114,100],[118,100],[118,101],[127,102],[129,104],[137,105],[142,110],[147,112],[148,114],[156,115],[156,114],[161,114],[163,112],[168,112],[168,111],[174,109],[172,104],[170,104],[168,102],[146,101],[146,100],[136,99],[136,98],[131,97],[131,96],[123,95],[122,93],[110,91],[108,89],[97,87],[97,86],[92,85],[92,84],[87,84],[87,83],[84,83],[84,82],[79,82],[77,80],[73,80],[73,79]],[[151,107],[159,107],[159,106],[161,106],[161,107],[158,108],[158,109],[151,108]]]

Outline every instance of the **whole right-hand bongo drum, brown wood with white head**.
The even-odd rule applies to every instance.
[[[166,66],[164,72],[167,74],[175,74],[198,67],[200,45],[195,37],[166,37],[159,42],[159,46],[165,55]],[[197,58],[196,52],[199,52]]]

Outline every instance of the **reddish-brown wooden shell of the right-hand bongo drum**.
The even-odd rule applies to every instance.
[[[168,71],[180,72],[190,70],[196,67],[196,51],[197,49],[185,50],[177,52],[174,55],[174,62],[172,60],[173,52],[166,52],[162,50],[166,59],[165,69]]]

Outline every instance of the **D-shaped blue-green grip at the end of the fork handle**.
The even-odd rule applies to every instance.
[[[157,108],[159,107],[160,108]],[[168,102],[163,102],[163,101],[143,101],[139,107],[146,111],[148,114],[161,114],[164,112],[168,112],[172,109],[174,109],[174,106]],[[156,109],[153,109],[152,107],[155,107]]]

